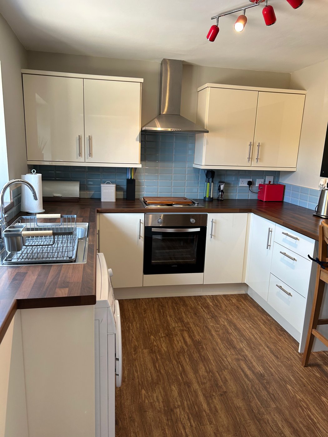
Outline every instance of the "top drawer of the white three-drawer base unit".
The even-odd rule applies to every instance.
[[[276,225],[275,241],[304,258],[307,258],[307,255],[311,255],[311,257],[313,255],[313,239],[283,226]]]

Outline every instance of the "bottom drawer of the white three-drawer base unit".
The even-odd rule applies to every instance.
[[[298,332],[302,332],[305,298],[273,274],[270,275],[268,303]]]

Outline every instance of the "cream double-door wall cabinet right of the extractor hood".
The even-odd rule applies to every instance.
[[[198,89],[197,168],[296,170],[306,91],[207,83]]]

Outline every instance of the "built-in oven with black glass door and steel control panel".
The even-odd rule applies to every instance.
[[[143,274],[202,273],[207,214],[145,214]]]

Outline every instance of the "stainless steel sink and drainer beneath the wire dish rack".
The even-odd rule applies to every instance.
[[[71,261],[71,263],[74,264],[85,264],[87,262],[87,252],[88,252],[88,246],[89,246],[89,229],[90,229],[90,223],[77,223],[76,226],[76,234],[77,234],[77,255],[76,259],[74,261]],[[6,266],[3,261],[6,258],[7,253],[5,250],[5,247],[3,243],[0,243],[0,266]],[[41,264],[67,264],[67,262],[47,262],[40,260],[40,262],[33,263],[34,265],[41,265]],[[29,265],[28,263],[15,263],[14,265]]]

